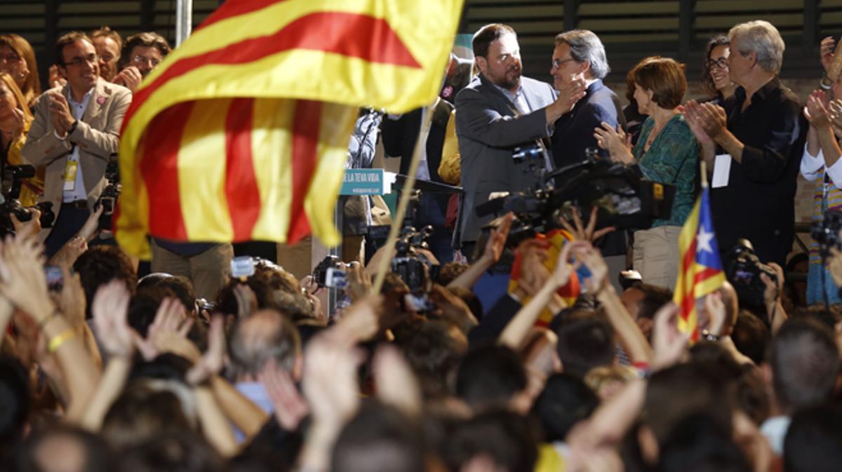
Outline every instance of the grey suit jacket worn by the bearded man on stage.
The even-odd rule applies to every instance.
[[[530,114],[519,114],[502,92],[482,74],[456,95],[456,135],[459,137],[461,185],[465,189],[459,209],[454,242],[477,241],[483,225],[492,217],[477,217],[477,204],[493,192],[519,192],[533,178],[524,165],[514,162],[512,151],[545,138],[547,105],[555,100],[550,84],[521,77]]]

